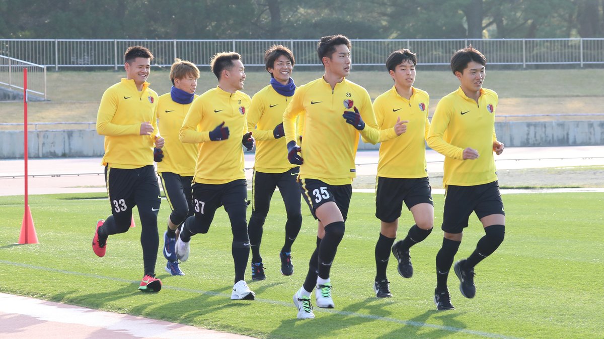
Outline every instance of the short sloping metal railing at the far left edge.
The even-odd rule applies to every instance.
[[[46,66],[0,55],[0,85],[23,90],[23,69],[27,67],[27,92],[46,100]]]

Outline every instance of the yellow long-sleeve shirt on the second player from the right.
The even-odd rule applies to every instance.
[[[397,118],[409,121],[407,130],[394,139],[384,141],[379,147],[377,176],[387,178],[425,178],[426,144],[430,122],[428,120],[428,104],[430,97],[427,92],[411,87],[413,94],[410,100],[403,98],[396,91],[396,86],[382,93],[373,101],[377,125],[391,128]]]

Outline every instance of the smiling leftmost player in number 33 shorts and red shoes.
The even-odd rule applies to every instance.
[[[98,221],[92,250],[104,256],[108,236],[130,229],[132,208],[137,206],[144,264],[138,289],[157,292],[161,290],[161,280],[155,277],[161,198],[153,168],[153,145],[162,148],[164,138],[159,136],[156,122],[157,93],[146,81],[153,54],[143,46],[133,46],[126,49],[124,59],[126,78],[103,93],[98,107],[97,133],[105,136],[103,165],[111,215]]]

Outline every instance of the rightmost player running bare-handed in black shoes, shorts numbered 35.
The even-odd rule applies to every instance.
[[[474,297],[474,267],[503,242],[506,215],[495,172],[495,159],[504,145],[495,135],[497,93],[483,88],[486,58],[472,48],[460,49],[451,57],[451,71],[460,81],[459,89],[443,97],[436,107],[428,145],[445,155],[445,211],[443,245],[436,255],[437,309],[455,309],[447,288],[449,269],[461,244],[463,229],[475,212],[486,235],[474,253],[454,265],[461,294]]]

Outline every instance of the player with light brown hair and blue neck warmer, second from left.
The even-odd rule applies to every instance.
[[[194,63],[175,59],[170,68],[172,89],[159,97],[157,109],[158,126],[165,139],[157,163],[157,172],[164,187],[172,214],[168,217],[168,227],[164,232],[165,270],[173,276],[184,276],[174,252],[176,230],[182,222],[193,215],[191,182],[195,173],[197,144],[183,143],[178,139],[182,121],[187,115],[197,88],[199,69]]]

